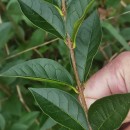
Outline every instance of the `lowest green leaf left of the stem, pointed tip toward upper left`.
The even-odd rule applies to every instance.
[[[70,94],[54,88],[30,91],[41,110],[56,122],[72,130],[88,130],[85,113]]]

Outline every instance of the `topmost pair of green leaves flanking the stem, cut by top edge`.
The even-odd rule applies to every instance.
[[[94,0],[66,1],[67,19],[63,20],[61,0],[19,0],[27,18],[36,26],[65,40],[69,34],[75,44],[80,25]]]

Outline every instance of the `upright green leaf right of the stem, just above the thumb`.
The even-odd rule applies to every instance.
[[[93,58],[101,42],[101,26],[97,11],[82,24],[76,38],[76,65],[81,82],[86,80]]]

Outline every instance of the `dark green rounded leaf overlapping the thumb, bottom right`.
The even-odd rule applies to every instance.
[[[88,111],[93,130],[117,130],[130,109],[130,94],[118,94],[99,99]]]

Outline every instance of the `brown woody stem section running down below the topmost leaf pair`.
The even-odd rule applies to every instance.
[[[85,115],[86,115],[86,118],[87,118],[89,130],[91,130],[91,126],[90,126],[89,121],[88,121],[88,108],[87,108],[87,104],[86,104],[84,93],[83,93],[83,85],[80,82],[79,74],[78,74],[77,67],[76,67],[74,48],[73,48],[73,44],[72,44],[69,36],[67,36],[67,43],[66,44],[67,44],[67,46],[68,46],[68,48],[70,50],[70,56],[71,56],[71,60],[72,60],[74,75],[75,75],[77,87],[78,87],[78,90],[79,90],[80,102],[81,102],[81,105],[82,105],[82,107],[83,107],[83,109],[85,111]]]

